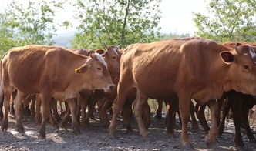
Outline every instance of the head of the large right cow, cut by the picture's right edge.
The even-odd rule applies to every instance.
[[[233,54],[232,54],[233,53]],[[221,52],[223,61],[230,65],[229,82],[224,89],[256,95],[256,53],[252,45],[234,45],[233,52]]]

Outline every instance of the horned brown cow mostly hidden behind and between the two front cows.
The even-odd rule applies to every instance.
[[[120,73],[120,56],[122,55],[119,51],[120,46],[114,46],[114,45],[105,45],[106,52],[104,52],[102,49],[97,49],[96,52],[101,54],[103,56],[103,59],[106,61],[109,69],[110,76],[114,82],[114,84],[117,85],[118,77]],[[80,55],[88,55],[88,50],[86,49],[72,49],[74,52],[80,54]],[[77,51],[79,50],[79,51]],[[88,127],[89,126],[89,117],[93,115],[93,110],[96,102],[99,99],[106,98],[106,103],[109,103],[112,105],[113,99],[116,98],[116,89],[113,89],[110,92],[104,92],[103,90],[95,90],[93,92],[93,96],[90,97],[92,92],[86,91],[86,92],[80,92],[78,96],[78,102],[79,106],[81,106],[81,116],[82,116],[82,126]],[[91,99],[90,99],[91,98]],[[90,100],[89,100],[90,99]],[[105,103],[105,104],[106,104]],[[88,108],[88,116],[86,115],[86,106],[89,106]],[[108,108],[107,106],[104,106],[99,109],[101,122],[103,122],[103,125],[109,126],[107,122],[109,122],[109,119],[107,119],[105,115],[105,109]],[[61,127],[66,127],[68,116],[65,116],[65,118],[62,120]],[[86,119],[85,119],[86,118]]]

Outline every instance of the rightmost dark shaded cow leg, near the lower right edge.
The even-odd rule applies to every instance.
[[[248,121],[248,114],[249,114],[248,106],[246,106],[246,105],[243,106],[242,114],[243,114],[242,116],[243,116],[243,123],[244,123],[245,132],[246,132],[250,142],[255,142],[256,140],[255,140],[254,134],[251,132],[251,128],[250,128],[249,121]]]

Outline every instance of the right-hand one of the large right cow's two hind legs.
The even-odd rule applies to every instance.
[[[147,96],[144,96],[139,90],[137,90],[137,96],[133,102],[133,109],[136,121],[138,122],[140,135],[148,136],[147,129],[143,123],[143,106],[147,103]]]

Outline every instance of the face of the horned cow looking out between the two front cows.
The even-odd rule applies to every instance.
[[[119,51],[120,46],[105,45],[106,52],[102,54],[104,60],[108,64],[109,73],[111,76],[120,75],[120,57],[121,52]]]

